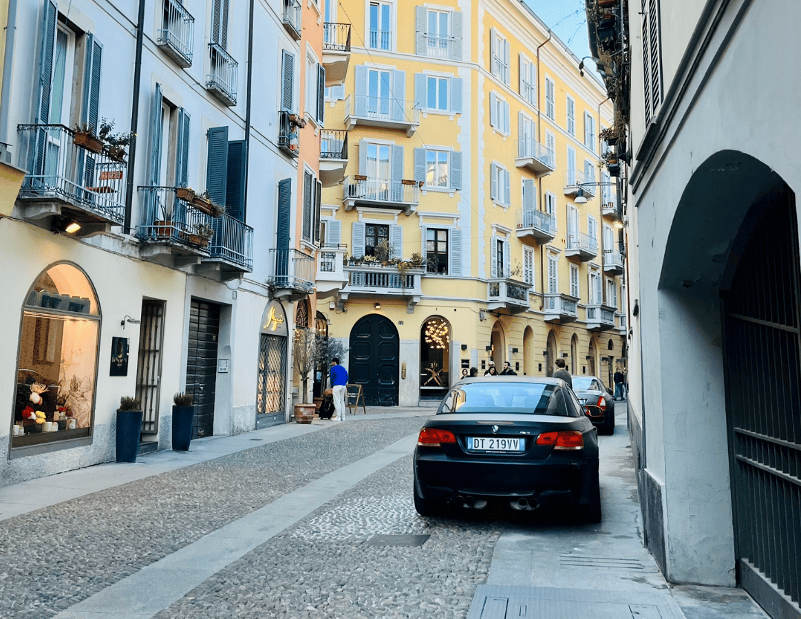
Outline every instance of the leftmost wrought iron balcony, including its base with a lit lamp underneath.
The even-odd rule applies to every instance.
[[[19,125],[20,167],[28,170],[19,191],[22,218],[51,228],[72,220],[75,237],[111,231],[125,220],[127,164],[106,152],[74,144],[60,124]]]

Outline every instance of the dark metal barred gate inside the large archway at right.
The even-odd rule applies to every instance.
[[[788,192],[756,229],[723,299],[739,577],[773,617],[801,617],[799,282]]]

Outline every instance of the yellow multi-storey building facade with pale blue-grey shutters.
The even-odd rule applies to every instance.
[[[329,10],[352,55],[326,93],[347,140],[316,290],[350,382],[417,406],[469,367],[544,375],[558,357],[611,382],[626,291],[600,83],[519,2]]]

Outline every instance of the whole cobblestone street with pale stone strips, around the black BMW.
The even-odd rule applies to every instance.
[[[98,492],[88,479],[115,469],[124,479],[172,454],[2,488],[0,617],[494,619],[512,616],[484,602],[509,597],[505,589],[545,601],[564,589],[579,606],[594,590],[596,617],[621,616],[623,602],[647,603],[663,619],[763,617],[740,590],[668,589],[639,539],[624,411],[618,405],[618,431],[602,438],[598,525],[506,509],[417,516],[411,451],[426,409],[206,439],[191,454],[233,439],[249,448]],[[268,438],[279,432],[288,438]],[[74,488],[70,477],[90,492],[48,496]],[[25,496],[46,507],[25,512]],[[393,534],[429,538],[374,539]],[[569,616],[547,604],[549,617]]]

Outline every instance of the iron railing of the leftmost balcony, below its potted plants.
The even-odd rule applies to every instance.
[[[20,198],[59,200],[82,209],[90,218],[123,223],[124,161],[74,144],[74,131],[61,124],[26,124],[17,129],[20,167],[29,171]]]

